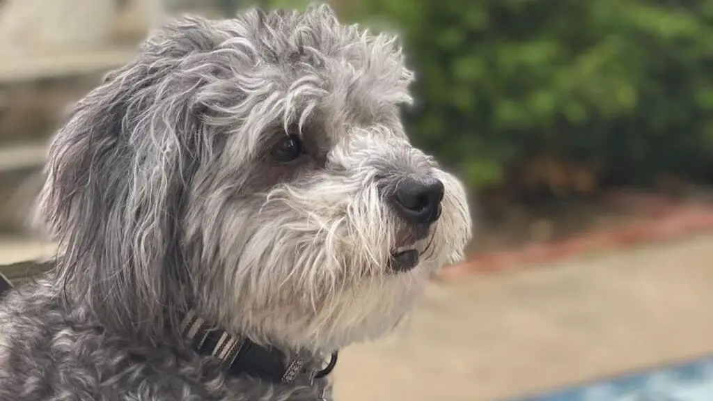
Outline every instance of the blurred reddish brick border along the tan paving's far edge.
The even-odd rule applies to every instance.
[[[628,205],[643,217],[634,223],[590,230],[566,240],[525,245],[473,255],[465,263],[448,266],[440,280],[454,280],[465,275],[495,273],[528,268],[573,258],[583,253],[630,248],[642,243],[683,238],[695,233],[713,232],[713,206],[702,203],[676,203],[663,196],[612,194],[612,200]]]

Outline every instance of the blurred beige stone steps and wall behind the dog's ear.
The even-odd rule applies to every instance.
[[[46,142],[175,0],[0,0],[0,235],[26,232]],[[210,1],[190,0],[210,16]]]

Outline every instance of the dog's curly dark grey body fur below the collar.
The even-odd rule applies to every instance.
[[[43,279],[18,285],[0,301],[0,400],[73,394],[82,401],[153,401],[177,392],[205,401],[331,400],[309,387],[225,377],[210,358],[172,345],[112,337],[86,311],[64,310],[59,295],[58,285]]]

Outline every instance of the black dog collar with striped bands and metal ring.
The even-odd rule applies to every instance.
[[[334,352],[324,369],[309,368],[304,357],[289,360],[275,347],[258,345],[247,337],[212,328],[193,311],[183,319],[181,333],[199,354],[217,358],[231,375],[260,377],[275,383],[292,383],[298,377],[306,377],[312,383],[329,375],[337,365],[337,352]]]

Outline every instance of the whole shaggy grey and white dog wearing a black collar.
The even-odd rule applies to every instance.
[[[328,6],[183,16],[51,141],[53,269],[0,304],[1,401],[332,400],[471,237],[406,136],[397,36]]]

